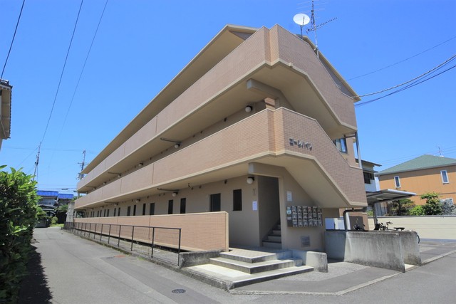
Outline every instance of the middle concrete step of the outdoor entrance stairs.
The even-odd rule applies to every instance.
[[[273,271],[281,268],[289,268],[296,266],[296,260],[271,260],[262,261],[257,263],[247,263],[242,261],[235,261],[229,258],[210,258],[210,263],[217,266],[222,266],[236,271],[242,271],[244,273],[260,273],[265,271]],[[301,261],[302,264],[302,261]]]

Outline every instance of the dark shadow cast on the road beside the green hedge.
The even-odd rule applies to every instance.
[[[27,264],[28,276],[21,282],[19,291],[19,304],[22,303],[51,303],[52,294],[48,287],[48,280],[44,275],[44,268],[41,266],[41,254],[33,251]]]

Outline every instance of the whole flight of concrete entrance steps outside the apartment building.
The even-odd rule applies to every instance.
[[[207,264],[188,267],[186,271],[211,285],[232,289],[314,271],[314,268],[304,266],[301,259],[293,257],[292,251],[265,252],[236,248],[220,253],[217,258],[210,258]]]

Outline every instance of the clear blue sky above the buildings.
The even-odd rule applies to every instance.
[[[317,24],[337,18],[318,29],[318,47],[359,95],[404,83],[456,55],[455,0],[315,3]],[[0,0],[1,68],[21,4]],[[81,1],[26,1],[3,75],[14,88],[11,139],[3,142],[0,164],[33,174],[43,140],[38,187],[76,188],[83,150],[90,162],[223,26],[279,24],[299,33],[293,16],[310,15],[310,4],[109,0],[81,75],[105,6],[105,0],[86,0],[56,95]],[[309,37],[314,41],[314,33]],[[443,156],[456,158],[455,80],[453,68],[357,106],[361,157],[383,164],[380,170],[422,154],[439,155],[439,147]]]

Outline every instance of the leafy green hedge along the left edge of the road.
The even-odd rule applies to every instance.
[[[38,202],[32,178],[13,168],[0,171],[0,303],[16,303],[27,273]]]

